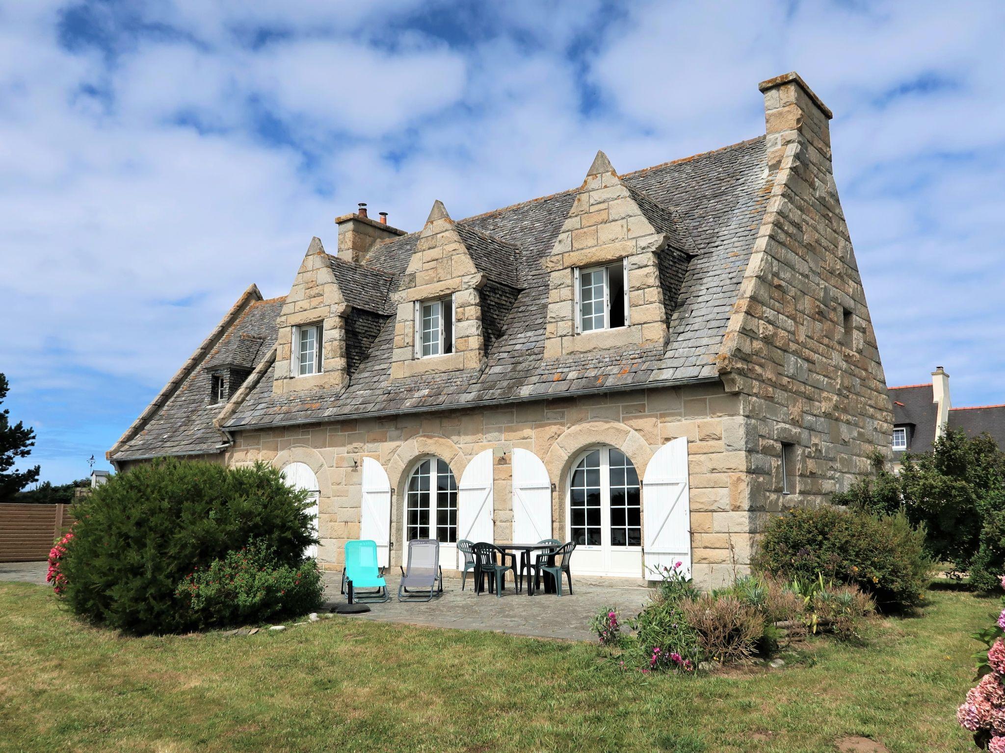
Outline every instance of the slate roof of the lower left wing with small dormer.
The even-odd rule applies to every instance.
[[[250,368],[258,365],[275,342],[275,320],[282,308],[282,298],[273,298],[251,303],[206,356],[205,364],[208,365],[221,354],[235,349],[247,352],[243,350],[243,343],[258,341],[255,355],[247,361]],[[195,367],[139,434],[127,442],[113,459],[216,452],[216,448],[223,442],[223,436],[213,428],[213,419],[222,408],[220,403],[210,403],[210,376],[207,369]]]

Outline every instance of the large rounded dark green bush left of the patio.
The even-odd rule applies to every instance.
[[[79,615],[134,634],[199,626],[176,589],[257,541],[277,566],[297,567],[316,541],[304,492],[265,464],[224,468],[156,461],[117,474],[84,501],[60,562],[63,596]]]

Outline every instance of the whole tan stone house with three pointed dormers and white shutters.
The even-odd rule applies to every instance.
[[[309,489],[317,554],[397,564],[432,536],[579,543],[639,581],[743,571],[766,516],[826,501],[892,416],[831,169],[795,73],[766,134],[406,233],[365,206],[289,292],[251,286],[110,451],[265,460]],[[472,176],[471,180],[476,180]]]

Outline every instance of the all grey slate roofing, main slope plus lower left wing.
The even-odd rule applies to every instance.
[[[685,160],[620,176],[651,224],[669,236],[679,269],[666,275],[676,306],[666,346],[611,348],[545,360],[548,273],[543,260],[554,246],[578,187],[454,223],[479,268],[498,284],[485,295],[492,322],[484,367],[390,381],[396,290],[418,242],[418,233],[377,246],[361,268],[332,258],[347,301],[383,314],[369,352],[354,361],[342,392],[272,394],[272,367],[249,385],[228,430],[320,422],[349,416],[436,410],[515,400],[561,397],[587,391],[634,389],[718,379],[716,356],[750,259],[771,192],[763,137]],[[661,276],[663,272],[661,271]],[[494,283],[490,283],[494,284]],[[260,336],[255,364],[271,351],[281,299],[254,304],[228,336]],[[376,329],[374,330],[376,331]],[[361,337],[365,340],[369,335]],[[215,354],[208,356],[215,357]],[[265,364],[262,364],[263,366]],[[221,436],[212,425],[221,406],[209,404],[204,368],[184,385],[120,448],[116,460],[211,452]],[[252,375],[254,379],[254,375]]]

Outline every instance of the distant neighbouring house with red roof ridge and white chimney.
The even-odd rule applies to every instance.
[[[927,385],[889,388],[893,402],[893,468],[900,467],[906,452],[927,453],[946,429],[959,429],[971,437],[990,434],[1005,449],[1005,405],[953,408],[949,374],[942,366]]]

